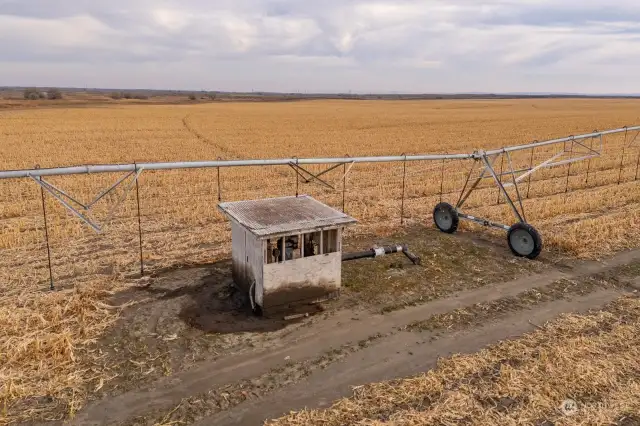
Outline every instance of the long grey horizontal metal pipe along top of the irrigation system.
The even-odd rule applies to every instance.
[[[534,142],[526,145],[517,145],[498,150],[486,151],[487,156],[501,154],[504,152],[520,151],[539,146],[553,145],[563,142],[589,139],[597,136],[610,135],[625,131],[640,131],[640,126],[606,130],[603,132],[588,133],[578,136],[570,136],[561,139],[552,139],[543,142]],[[242,167],[242,166],[288,166],[291,163],[304,164],[342,164],[342,163],[388,163],[401,161],[434,161],[434,160],[467,160],[480,159],[481,154],[474,152],[471,154],[433,154],[433,155],[398,155],[383,157],[340,157],[340,158],[281,158],[264,160],[227,160],[227,161],[181,161],[167,163],[139,163],[138,168],[145,170],[176,170],[176,169],[198,169],[215,167]],[[116,173],[116,172],[136,172],[135,164],[103,164],[84,165],[72,167],[56,167],[49,169],[26,169],[26,170],[6,170],[0,171],[0,179],[28,178],[38,176],[62,176],[90,173]]]

